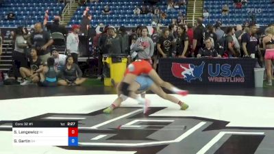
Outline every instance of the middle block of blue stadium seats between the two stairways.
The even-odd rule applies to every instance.
[[[110,10],[112,13],[110,15],[105,15],[102,13],[102,10],[105,5],[110,6]],[[134,14],[133,10],[138,6],[139,8],[142,6],[142,1],[123,1],[117,0],[112,2],[101,1],[99,3],[88,3],[90,7],[90,14],[92,14],[91,25],[97,26],[99,23],[103,23],[105,25],[114,25],[114,26],[137,26],[137,25],[151,25],[153,21],[153,15],[149,14]],[[163,1],[158,4],[158,8],[160,10],[164,10],[167,12],[167,18],[162,20],[161,23],[163,25],[169,25],[171,23],[172,18],[177,18],[178,12],[183,12],[186,14],[186,6],[178,8],[177,10],[167,10],[166,2]],[[78,7],[77,11],[71,18],[71,22],[69,26],[73,24],[79,24],[82,21],[82,14],[86,7],[81,6]]]

